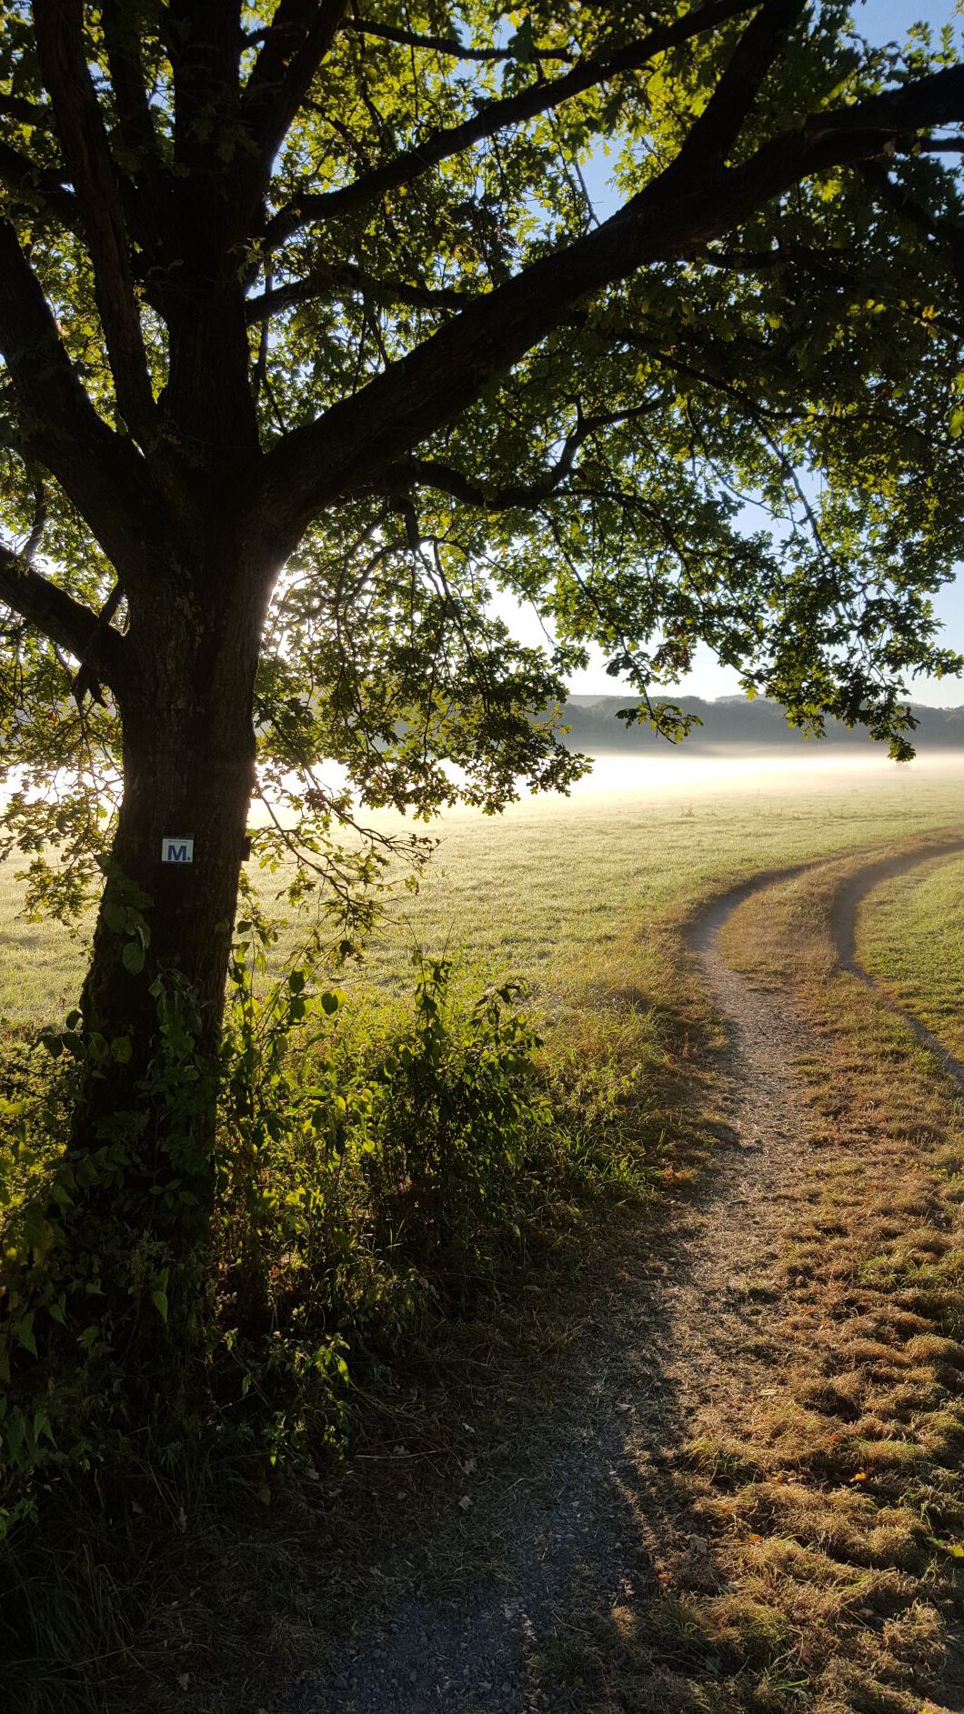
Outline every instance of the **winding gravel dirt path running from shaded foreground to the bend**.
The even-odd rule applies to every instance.
[[[851,883],[837,932],[853,968],[858,898],[918,860]],[[672,1465],[705,1411],[739,1424],[746,1402],[774,1390],[767,1275],[810,1166],[794,1061],[813,1042],[722,962],[719,934],[751,891],[794,872],[756,876],[690,932],[731,1030],[727,1131],[703,1196],[669,1215],[660,1238],[645,1234],[607,1301],[590,1306],[563,1399],[521,1400],[521,1462],[518,1443],[508,1457],[499,1445],[496,1402],[465,1481],[441,1472],[427,1496],[427,1529],[386,1510],[350,1618],[333,1616],[326,1659],[273,1714],[564,1714],[583,1705],[566,1676],[568,1639],[604,1627],[621,1603],[645,1604],[667,1565],[698,1584],[708,1546]]]

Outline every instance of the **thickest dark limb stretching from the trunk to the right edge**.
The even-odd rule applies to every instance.
[[[264,461],[261,506],[286,540],[340,494],[386,468],[475,401],[559,326],[573,305],[638,267],[693,255],[774,197],[822,170],[880,156],[895,137],[964,117],[964,67],[935,72],[858,106],[811,115],[739,168],[655,180],[619,214],[533,262],[455,315]],[[669,175],[667,175],[669,177]],[[262,514],[264,516],[264,514]]]

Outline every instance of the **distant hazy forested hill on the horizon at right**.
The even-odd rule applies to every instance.
[[[787,727],[786,715],[779,703],[756,698],[750,703],[744,696],[720,696],[715,703],[705,703],[698,696],[672,698],[690,715],[696,715],[703,723],[693,727],[688,746],[710,744],[804,744],[806,739],[794,727]],[[642,751],[666,747],[666,739],[650,727],[626,727],[616,718],[618,710],[631,708],[635,698],[623,696],[573,696],[564,708],[564,723],[569,727],[566,744],[569,749],[588,751]],[[918,749],[964,747],[964,706],[962,708],[925,708],[911,704],[919,722],[913,734]],[[830,744],[866,744],[868,735],[863,727],[849,730],[839,720],[827,722],[827,739]]]

